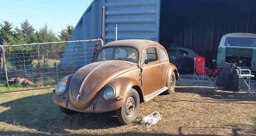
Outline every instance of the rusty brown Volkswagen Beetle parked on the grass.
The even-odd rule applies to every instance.
[[[166,49],[150,40],[106,44],[93,63],[61,79],[53,102],[66,114],[116,111],[121,123],[136,119],[140,103],[174,92],[179,79]]]

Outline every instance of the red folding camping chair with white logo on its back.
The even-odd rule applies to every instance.
[[[201,85],[205,85],[208,81],[211,81],[213,83],[212,78],[214,77],[214,75],[217,75],[219,70],[219,69],[208,69],[207,67],[204,67],[204,64],[205,64],[204,57],[195,56],[193,79],[195,79],[195,76],[196,76],[197,81],[199,81]],[[200,74],[200,75],[198,76],[197,74]],[[204,77],[207,77],[208,79],[206,82],[204,82]],[[203,78],[202,82],[200,81],[200,78]]]

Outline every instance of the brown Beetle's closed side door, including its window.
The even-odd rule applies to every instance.
[[[151,94],[160,89],[161,86],[161,66],[158,59],[156,46],[148,46],[142,50],[141,62],[148,60],[148,64],[142,66],[142,88],[144,95]],[[141,64],[142,64],[141,63]]]

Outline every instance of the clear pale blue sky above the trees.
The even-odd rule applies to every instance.
[[[14,27],[28,19],[36,30],[47,24],[59,32],[68,24],[76,26],[93,0],[1,0],[0,21],[9,20]]]

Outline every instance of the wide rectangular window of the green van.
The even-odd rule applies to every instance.
[[[238,38],[238,37],[228,37],[225,41],[225,46],[236,46],[236,47],[255,47],[255,38]]]

